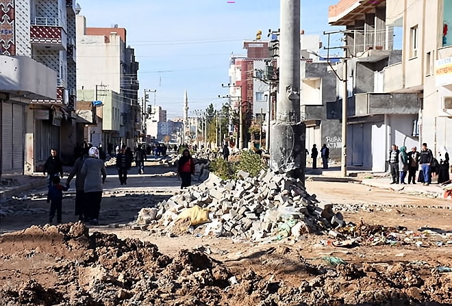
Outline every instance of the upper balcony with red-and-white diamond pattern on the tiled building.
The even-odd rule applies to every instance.
[[[30,38],[38,49],[66,50],[67,34],[60,18],[32,17]]]

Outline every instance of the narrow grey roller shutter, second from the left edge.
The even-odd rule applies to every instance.
[[[25,120],[23,105],[12,105],[12,168],[15,172],[23,172],[23,155],[25,153]]]

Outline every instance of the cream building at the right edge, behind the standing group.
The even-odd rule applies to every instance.
[[[452,2],[386,1],[386,23],[403,31],[399,62],[384,69],[388,92],[417,94],[419,144],[452,149]],[[411,101],[412,102],[412,101]],[[419,147],[419,146],[418,146]]]

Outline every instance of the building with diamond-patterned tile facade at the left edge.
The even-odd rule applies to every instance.
[[[0,3],[1,170],[42,170],[75,146],[75,1]],[[62,150],[60,150],[62,149]]]

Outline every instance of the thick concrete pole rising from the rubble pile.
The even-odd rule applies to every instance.
[[[300,0],[281,0],[279,94],[271,127],[270,166],[305,180],[306,126],[300,114]]]

